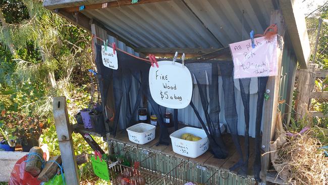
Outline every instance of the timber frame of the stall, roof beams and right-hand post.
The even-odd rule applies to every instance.
[[[140,0],[138,4],[156,3],[168,0]],[[295,56],[298,60],[299,66],[306,69],[310,57],[310,45],[308,41],[305,20],[299,19],[300,12],[297,10],[294,0],[277,0],[280,7],[279,10],[273,10],[270,16],[270,24],[277,24],[279,27],[278,34],[281,36],[282,43],[286,35],[289,36],[291,44],[294,49]],[[137,48],[134,44],[127,41],[125,38],[116,34],[115,32],[107,29],[104,24],[98,20],[90,19],[83,13],[79,12],[79,6],[84,5],[86,10],[101,9],[103,4],[106,3],[107,8],[118,6],[133,6],[131,0],[120,1],[106,1],[106,0],[44,0],[44,7],[57,12],[67,20],[76,24],[90,33],[96,35],[101,39],[107,39],[107,35],[111,35],[116,39],[124,42],[128,47],[134,49],[135,52],[140,52],[142,55],[154,54],[159,57],[172,57],[176,51],[185,53],[188,57],[199,56],[209,52],[217,51],[218,49],[191,49],[191,48]],[[285,34],[287,31],[288,34]],[[100,43],[96,38],[94,43]],[[101,44],[101,43],[100,43]],[[278,74],[277,76],[269,77],[266,92],[269,95],[269,100],[264,102],[264,124],[261,149],[263,153],[269,152],[269,142],[272,141],[275,134],[276,118],[278,113],[279,101],[279,88],[280,88],[280,74],[282,70],[284,44],[281,44],[278,50]],[[222,56],[222,60],[226,60],[229,56]],[[296,69],[296,65],[295,65]],[[296,70],[295,70],[296,71]],[[295,73],[294,71],[294,73]],[[292,78],[292,84],[295,81],[295,74]],[[292,88],[291,88],[292,89]],[[290,89],[290,91],[291,91]],[[289,99],[293,96],[292,92],[289,93]],[[112,96],[110,99],[114,99]],[[113,101],[111,101],[113,102]],[[108,137],[108,136],[107,136]],[[109,137],[108,137],[109,138]],[[267,169],[269,168],[269,155],[261,157],[261,178],[265,182]]]

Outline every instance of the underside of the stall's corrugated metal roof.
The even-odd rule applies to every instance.
[[[270,0],[172,0],[82,13],[136,47],[206,49],[263,33],[271,10]]]

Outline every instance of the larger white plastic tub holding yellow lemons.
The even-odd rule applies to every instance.
[[[184,133],[191,133],[195,136],[201,137],[201,140],[196,142],[183,140],[181,135]],[[184,127],[170,135],[172,141],[173,152],[191,158],[196,158],[208,150],[209,141],[203,129]]]

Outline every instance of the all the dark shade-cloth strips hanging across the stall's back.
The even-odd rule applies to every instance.
[[[122,106],[122,98],[125,96],[125,103],[127,104],[124,114],[126,120],[125,127],[132,126],[137,123],[138,108],[142,105],[143,97],[148,101],[151,106],[152,113],[157,116],[157,122],[160,126],[159,143],[169,145],[171,143],[168,128],[165,126],[163,120],[166,108],[157,105],[151,98],[148,75],[150,64],[147,61],[135,58],[131,55],[116,51],[119,61],[118,70],[113,70],[105,67],[101,59],[101,45],[96,44],[96,66],[97,77],[99,81],[101,102],[103,111],[106,113],[106,124],[109,125],[111,134],[116,134],[118,131],[119,117]],[[180,62],[180,61],[177,61]],[[245,143],[244,154],[242,147],[238,140],[238,115],[235,102],[235,87],[233,79],[233,63],[232,61],[219,61],[215,60],[215,54],[208,55],[198,59],[191,59],[185,61],[185,66],[192,74],[194,87],[198,87],[198,92],[201,101],[202,110],[197,110],[194,102],[190,103],[196,117],[198,118],[202,128],[206,132],[209,139],[210,150],[214,157],[224,159],[229,153],[224,143],[221,128],[220,128],[220,112],[224,110],[224,117],[227,122],[232,140],[236,146],[236,151],[239,154],[239,161],[231,167],[231,170],[238,170],[241,175],[247,174],[248,158],[249,158],[249,88],[250,78],[239,79],[242,102],[244,105],[245,115]],[[160,66],[159,66],[160,67]],[[219,83],[219,78],[222,83]],[[262,120],[262,107],[264,101],[264,90],[266,86],[267,77],[258,78],[258,99],[256,110],[256,123],[255,123],[255,162],[254,162],[254,176],[256,180],[259,179],[260,172],[260,146],[261,146],[261,120]],[[131,101],[131,86],[134,88],[137,95],[134,95],[135,100]],[[196,88],[195,88],[196,89]],[[194,92],[195,92],[194,89]],[[223,89],[224,98],[220,100],[219,89]],[[195,93],[194,93],[195,94]],[[112,100],[112,102],[110,101]],[[113,104],[114,101],[114,104]],[[224,107],[220,107],[220,101],[224,101]],[[205,119],[202,119],[200,113],[204,114]],[[113,118],[114,119],[111,119]],[[179,120],[183,121],[183,120]],[[175,128],[178,128],[178,110],[174,110]]]

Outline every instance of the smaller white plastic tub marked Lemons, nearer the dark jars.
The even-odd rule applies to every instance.
[[[155,138],[156,126],[147,123],[138,123],[127,128],[129,140],[136,144],[146,144]]]

